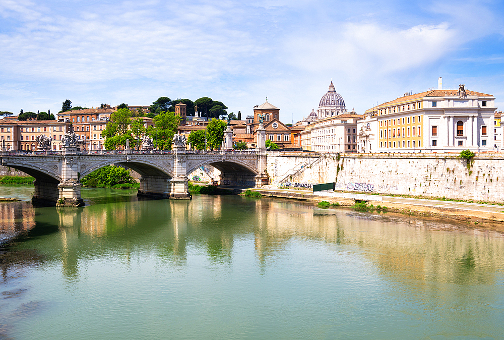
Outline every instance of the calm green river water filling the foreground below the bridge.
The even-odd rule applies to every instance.
[[[0,250],[0,339],[504,338],[502,234],[135,194],[83,190],[78,209],[0,203],[0,237],[15,237]]]

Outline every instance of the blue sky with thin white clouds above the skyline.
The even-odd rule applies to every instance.
[[[498,1],[0,0],[0,110],[208,96],[300,120],[331,79],[358,113],[405,92],[466,88],[504,108]]]

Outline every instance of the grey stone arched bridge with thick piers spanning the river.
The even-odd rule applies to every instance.
[[[267,184],[266,150],[173,151],[2,150],[0,162],[35,178],[32,202],[41,205],[83,206],[80,179],[105,165],[120,164],[141,175],[139,196],[191,199],[187,175],[203,165],[221,171],[221,181],[236,187]]]

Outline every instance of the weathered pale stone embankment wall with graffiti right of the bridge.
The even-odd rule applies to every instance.
[[[282,156],[268,158],[268,173],[274,174],[273,164],[280,173]],[[275,181],[279,178],[271,179],[272,184]],[[504,203],[504,154],[477,154],[469,161],[455,153],[325,154],[290,182],[336,182],[336,190]]]

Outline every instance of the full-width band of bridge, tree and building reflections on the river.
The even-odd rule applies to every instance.
[[[492,232],[444,231],[438,221],[282,200],[205,195],[190,202],[119,200],[81,209],[15,207],[0,206],[2,231],[32,236],[59,231],[55,253],[69,278],[78,275],[84,253],[111,252],[128,263],[132,252],[154,247],[159,259],[185,265],[188,248],[194,248],[211,264],[230,265],[237,242],[243,247],[246,240],[253,240],[262,271],[268,258],[291,242],[321,241],[336,252],[358,247],[355,256],[381,275],[418,287],[429,281],[493,284],[504,258],[504,238]]]

